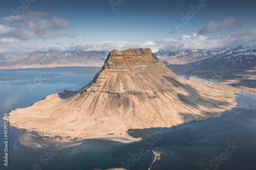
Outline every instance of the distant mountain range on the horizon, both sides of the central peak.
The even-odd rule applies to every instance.
[[[243,67],[256,65],[256,46],[226,47],[216,50],[161,50],[152,48],[152,52],[159,58],[167,61],[200,60],[198,68],[207,67]],[[10,53],[0,55],[0,62],[14,62],[0,68],[33,68],[55,66],[101,66],[109,54],[108,51],[67,51],[47,52],[36,51],[33,53]],[[168,62],[166,62],[168,64]]]

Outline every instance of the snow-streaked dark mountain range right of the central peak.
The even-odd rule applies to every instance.
[[[206,65],[246,66],[256,65],[256,46],[226,47],[216,50],[161,50],[152,49],[156,56],[178,59],[207,58],[201,63]]]

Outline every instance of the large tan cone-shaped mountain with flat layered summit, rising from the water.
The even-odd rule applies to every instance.
[[[15,109],[8,120],[15,128],[46,136],[138,140],[127,130],[172,127],[221,116],[236,105],[232,96],[219,100],[222,88],[176,76],[150,48],[113,50],[88,85]]]

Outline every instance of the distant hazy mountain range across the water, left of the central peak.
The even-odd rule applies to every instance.
[[[108,52],[104,51],[79,51],[64,53],[49,50],[47,52],[34,52],[29,57],[14,62],[1,68],[35,68],[55,66],[99,66],[104,63]]]

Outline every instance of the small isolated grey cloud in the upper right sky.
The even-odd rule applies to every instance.
[[[220,21],[211,20],[198,34],[217,32],[225,29],[234,29],[241,26],[241,22],[234,17],[226,17]]]

